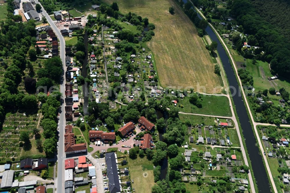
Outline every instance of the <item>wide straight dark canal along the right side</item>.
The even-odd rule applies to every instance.
[[[184,3],[187,2],[187,0],[183,0],[183,1]],[[198,13],[197,15],[200,19],[202,19]],[[229,57],[227,56],[226,51],[222,47],[222,44],[220,43],[218,37],[215,35],[213,30],[208,26],[205,31],[211,37],[212,41],[216,41],[218,43],[217,51],[218,51],[218,54],[220,55],[220,59],[224,66],[226,77],[229,80],[231,94],[235,93],[235,91],[237,92],[236,94],[233,94],[232,96],[233,102],[236,107],[238,119],[240,120],[240,123],[241,123],[242,133],[245,138],[246,148],[249,153],[250,162],[252,164],[255,180],[258,185],[258,190],[259,192],[263,192],[263,193],[271,192],[269,179],[267,177],[267,173],[266,173],[263,161],[262,161],[262,156],[259,154],[259,148],[256,146],[256,139],[254,136],[254,132],[251,127],[250,119],[247,114],[246,107],[244,105],[242,94],[240,93],[240,90],[239,90],[238,81],[235,77],[235,73],[229,61]]]

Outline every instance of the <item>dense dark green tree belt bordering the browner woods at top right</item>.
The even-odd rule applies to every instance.
[[[229,2],[228,6],[238,25],[243,26],[244,33],[253,35],[257,40],[256,46],[264,50],[264,54],[257,59],[269,62],[274,74],[287,77],[290,73],[289,40],[285,39],[280,28],[272,25],[262,14],[259,15],[253,1],[234,0],[232,3]],[[279,15],[276,9],[272,10],[275,10],[275,15]]]

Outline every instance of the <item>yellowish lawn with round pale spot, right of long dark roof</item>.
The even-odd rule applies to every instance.
[[[134,180],[134,183],[131,184],[132,188],[135,188],[135,191],[139,193],[151,193],[151,187],[154,185],[153,170],[148,170],[148,168],[152,169],[153,167],[151,161],[139,156],[134,160],[128,158],[127,161],[131,180]]]

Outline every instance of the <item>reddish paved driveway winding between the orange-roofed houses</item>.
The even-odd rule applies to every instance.
[[[135,130],[136,130],[136,135],[141,132],[141,130],[138,127],[136,127]],[[133,147],[134,137],[136,137],[136,135],[131,136],[130,139],[127,139],[124,142],[119,141],[117,145],[112,145],[112,146],[109,146],[109,145],[108,146],[104,146],[104,145],[101,145],[101,146],[92,145],[94,150],[92,152],[90,152],[90,154],[93,154],[93,153],[95,153],[97,151],[100,151],[101,152],[102,150],[107,151],[108,148],[118,148],[118,151],[119,151],[119,149],[121,149],[121,152],[123,152],[123,153],[124,153],[125,150],[129,151],[130,148],[122,148],[122,145],[127,145],[127,146]]]

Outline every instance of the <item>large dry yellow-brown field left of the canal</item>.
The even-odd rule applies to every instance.
[[[153,51],[162,87],[195,88],[207,93],[220,92],[220,79],[204,41],[189,18],[173,0],[105,0],[117,2],[123,13],[135,12],[154,23],[155,36],[148,47]],[[168,8],[173,5],[175,14]],[[204,87],[206,90],[199,88]]]

